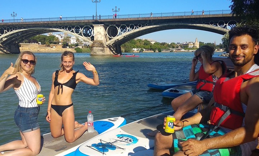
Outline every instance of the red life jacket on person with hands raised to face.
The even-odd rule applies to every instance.
[[[224,63],[224,61],[220,61],[220,60],[216,60],[221,62],[221,66],[222,66],[222,74],[225,74],[227,71],[227,66]],[[214,61],[214,62],[216,62]],[[215,85],[216,82],[213,82],[213,78],[212,78],[212,74],[207,74],[204,71],[203,65],[201,65],[200,69],[199,69],[199,80],[198,83],[196,85],[196,89],[199,91],[212,91],[213,90],[213,85]]]

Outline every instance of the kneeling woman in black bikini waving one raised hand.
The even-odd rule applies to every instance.
[[[86,130],[85,125],[75,121],[74,107],[71,95],[78,82],[89,85],[99,85],[97,71],[91,63],[84,62],[85,69],[93,72],[93,79],[73,70],[74,54],[65,51],[61,55],[61,70],[52,74],[52,86],[49,93],[49,105],[46,120],[50,123],[52,137],[58,138],[65,135],[67,142],[76,141]],[[62,127],[63,125],[63,127]],[[80,127],[80,128],[79,128]],[[79,128],[74,130],[75,128]]]

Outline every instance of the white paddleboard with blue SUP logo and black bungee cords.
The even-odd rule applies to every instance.
[[[174,112],[166,112],[143,118],[126,124],[122,127],[108,131],[83,143],[75,152],[75,156],[128,156],[133,153],[152,149],[154,138],[147,133],[156,130],[157,125],[162,124],[167,115]],[[184,117],[194,115],[188,112]],[[150,151],[149,151],[150,152]]]

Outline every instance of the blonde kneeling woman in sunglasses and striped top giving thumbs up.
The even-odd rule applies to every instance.
[[[36,97],[40,93],[40,84],[32,76],[37,59],[32,52],[19,54],[0,77],[0,92],[13,88],[19,98],[14,120],[19,128],[21,140],[15,140],[0,146],[0,152],[11,150],[0,155],[33,156],[40,152],[40,126],[38,123],[39,105]],[[8,77],[9,76],[9,77]],[[45,97],[43,97],[45,102]]]

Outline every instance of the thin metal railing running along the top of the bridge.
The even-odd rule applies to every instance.
[[[230,14],[231,10],[204,10],[204,15],[213,14]],[[143,17],[166,17],[166,16],[186,16],[191,15],[191,11],[185,12],[171,12],[171,13],[143,13],[143,14],[125,14],[117,15],[116,18],[143,18]],[[194,11],[194,15],[202,15],[202,11]],[[73,20],[95,20],[93,16],[79,16],[79,17],[62,17],[62,21],[73,21]],[[113,15],[98,15],[97,20],[100,19],[113,19]],[[41,22],[41,21],[60,21],[59,17],[54,18],[24,18],[23,21],[20,19],[4,19],[4,23],[10,22]]]

